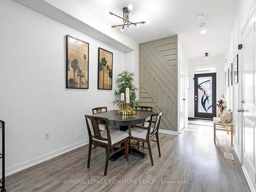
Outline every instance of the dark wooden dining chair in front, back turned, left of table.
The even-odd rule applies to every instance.
[[[87,125],[87,130],[89,135],[87,168],[90,168],[92,150],[97,146],[103,147],[106,149],[106,162],[105,162],[105,170],[104,170],[104,176],[105,176],[106,171],[108,170],[109,158],[115,153],[124,149],[124,156],[126,158],[126,161],[128,161],[129,145],[127,140],[129,138],[129,134],[123,131],[110,129],[108,118],[95,117],[90,115],[84,115],[84,117],[86,118],[86,125]],[[91,122],[91,126],[89,125],[89,122]],[[105,129],[103,131],[99,130],[98,122],[100,122],[101,124],[104,124]],[[118,150],[112,152],[112,149],[121,143],[124,143],[124,145],[122,145]],[[93,148],[92,148],[92,145],[94,145]]]

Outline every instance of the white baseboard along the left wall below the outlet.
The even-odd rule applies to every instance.
[[[41,155],[32,159],[29,159],[27,161],[24,161],[22,163],[18,163],[16,165],[12,165],[10,167],[6,167],[6,177],[12,174],[15,174],[17,172],[20,172],[21,170],[24,170],[26,168],[32,167],[34,165],[37,165],[39,163],[42,163],[44,161],[53,159],[54,157],[60,156],[62,154],[68,153],[72,150],[75,150],[76,148],[79,148],[81,146],[84,146],[89,143],[89,139],[87,140],[82,140],[77,143],[59,148],[58,150],[55,150],[53,152],[47,153],[45,155]],[[2,169],[0,170],[0,175],[2,176]]]

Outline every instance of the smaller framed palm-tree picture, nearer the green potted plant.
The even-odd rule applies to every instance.
[[[98,48],[98,89],[112,90],[113,53]]]

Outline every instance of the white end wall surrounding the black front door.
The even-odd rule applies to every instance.
[[[202,66],[216,66],[216,92],[217,100],[225,94],[224,81],[224,57],[213,56],[208,61],[203,61],[202,57],[188,60],[188,76],[189,76],[189,89],[188,89],[188,117],[195,117],[194,115],[194,68]],[[217,109],[218,114],[218,109]]]

